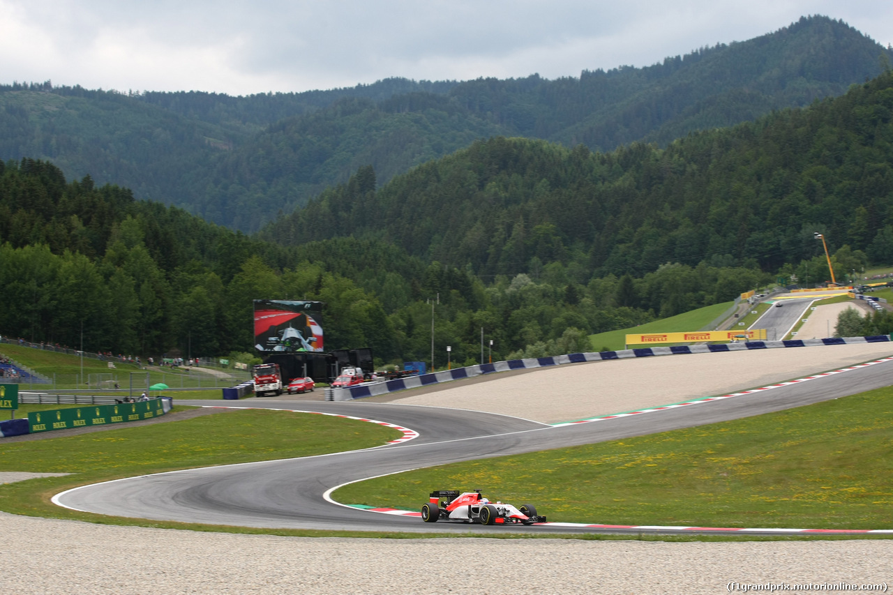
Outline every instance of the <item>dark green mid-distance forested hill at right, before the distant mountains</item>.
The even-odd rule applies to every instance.
[[[831,248],[893,262],[893,73],[808,108],[611,153],[491,138],[375,189],[371,168],[263,237],[393,241],[476,274],[641,275],[660,264],[778,271]]]

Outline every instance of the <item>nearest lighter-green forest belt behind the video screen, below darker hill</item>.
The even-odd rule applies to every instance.
[[[591,331],[713,303],[730,282],[747,289],[764,278],[672,264],[635,281],[580,284],[549,276],[547,264],[541,279],[485,283],[374,239],[281,247],[88,177],[66,182],[50,163],[0,170],[0,333],[88,350],[246,352],[253,299],[308,298],[326,303],[327,348],[369,346],[380,363],[428,361],[434,314],[436,363],[450,345],[454,364],[471,364],[481,328],[497,358],[588,350]]]

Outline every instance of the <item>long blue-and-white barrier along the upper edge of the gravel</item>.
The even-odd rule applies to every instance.
[[[620,351],[600,351],[597,353],[572,353],[566,356],[531,357],[530,359],[513,359],[507,362],[496,362],[494,364],[470,365],[467,368],[455,368],[454,370],[447,370],[446,372],[422,374],[421,376],[411,376],[410,378],[400,378],[392,381],[361,384],[359,386],[350,387],[349,389],[332,389],[331,400],[349,401],[355,398],[386,395],[398,390],[416,389],[421,386],[459,380],[460,378],[470,378],[482,374],[508,372],[509,370],[530,370],[551,365],[583,364],[585,362],[601,362],[609,359],[626,359],[629,357],[680,356],[695,353],[750,351],[753,349],[855,345],[859,343],[889,342],[890,340],[891,338],[889,335],[879,335],[875,337],[847,337],[846,339],[830,338],[788,341],[749,341],[741,343],[722,343],[719,345],[622,349]],[[326,400],[330,400],[328,392]]]

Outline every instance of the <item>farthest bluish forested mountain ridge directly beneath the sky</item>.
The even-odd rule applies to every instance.
[[[384,80],[300,94],[121,94],[0,88],[0,159],[56,163],[240,230],[257,230],[371,164],[380,183],[475,138],[613,150],[837,96],[888,49],[845,23],[804,18],[647,68],[544,80]]]

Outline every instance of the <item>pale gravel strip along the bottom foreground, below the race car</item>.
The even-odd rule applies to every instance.
[[[730,582],[890,582],[891,541],[680,542],[294,538],[0,513],[4,591],[721,593]]]

